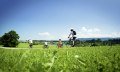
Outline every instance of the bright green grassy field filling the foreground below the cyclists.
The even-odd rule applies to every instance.
[[[24,45],[25,46],[25,45]],[[19,46],[24,48],[24,46]],[[26,45],[27,47],[27,45]],[[0,72],[119,72],[120,46],[0,48]]]

